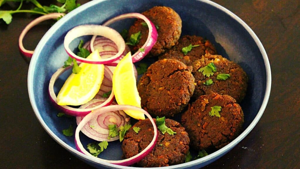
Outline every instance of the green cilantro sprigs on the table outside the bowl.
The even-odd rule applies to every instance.
[[[0,7],[1,5],[7,2],[20,2],[20,5],[16,10],[0,10],[0,19],[4,20],[6,24],[10,24],[13,18],[12,15],[15,13],[32,13],[41,15],[46,15],[55,12],[68,13],[80,6],[80,4],[76,3],[76,0],[57,0],[57,2],[63,4],[60,7],[57,5],[43,6],[37,0],[26,0],[26,2],[31,2],[35,5],[35,8],[31,10],[26,10],[21,9],[24,1],[25,0],[0,0]]]

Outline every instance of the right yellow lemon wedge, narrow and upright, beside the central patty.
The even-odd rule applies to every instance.
[[[141,108],[141,98],[137,91],[137,80],[134,76],[130,52],[120,60],[113,72],[113,92],[118,104]],[[142,112],[135,110],[124,110],[124,112],[137,120],[145,119],[145,115]]]

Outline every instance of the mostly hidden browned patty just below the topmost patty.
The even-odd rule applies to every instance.
[[[193,47],[191,51],[189,51],[187,54],[184,54],[182,52],[182,48],[187,47],[190,44],[192,46],[199,46]],[[158,59],[177,59],[182,61],[186,65],[192,65],[193,61],[200,59],[202,55],[205,55],[207,53],[217,54],[214,45],[211,44],[210,41],[205,40],[200,36],[184,35],[179,39],[178,45],[172,47],[169,51],[159,56]]]

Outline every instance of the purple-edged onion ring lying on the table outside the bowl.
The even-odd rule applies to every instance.
[[[37,24],[49,20],[49,19],[56,19],[58,17],[64,16],[65,14],[63,13],[51,13],[51,14],[46,14],[41,17],[36,18],[35,20],[32,20],[21,32],[19,36],[19,49],[21,53],[26,56],[26,57],[32,57],[34,51],[29,51],[24,48],[23,46],[23,39],[26,35],[26,33],[33,27],[36,26]]]

